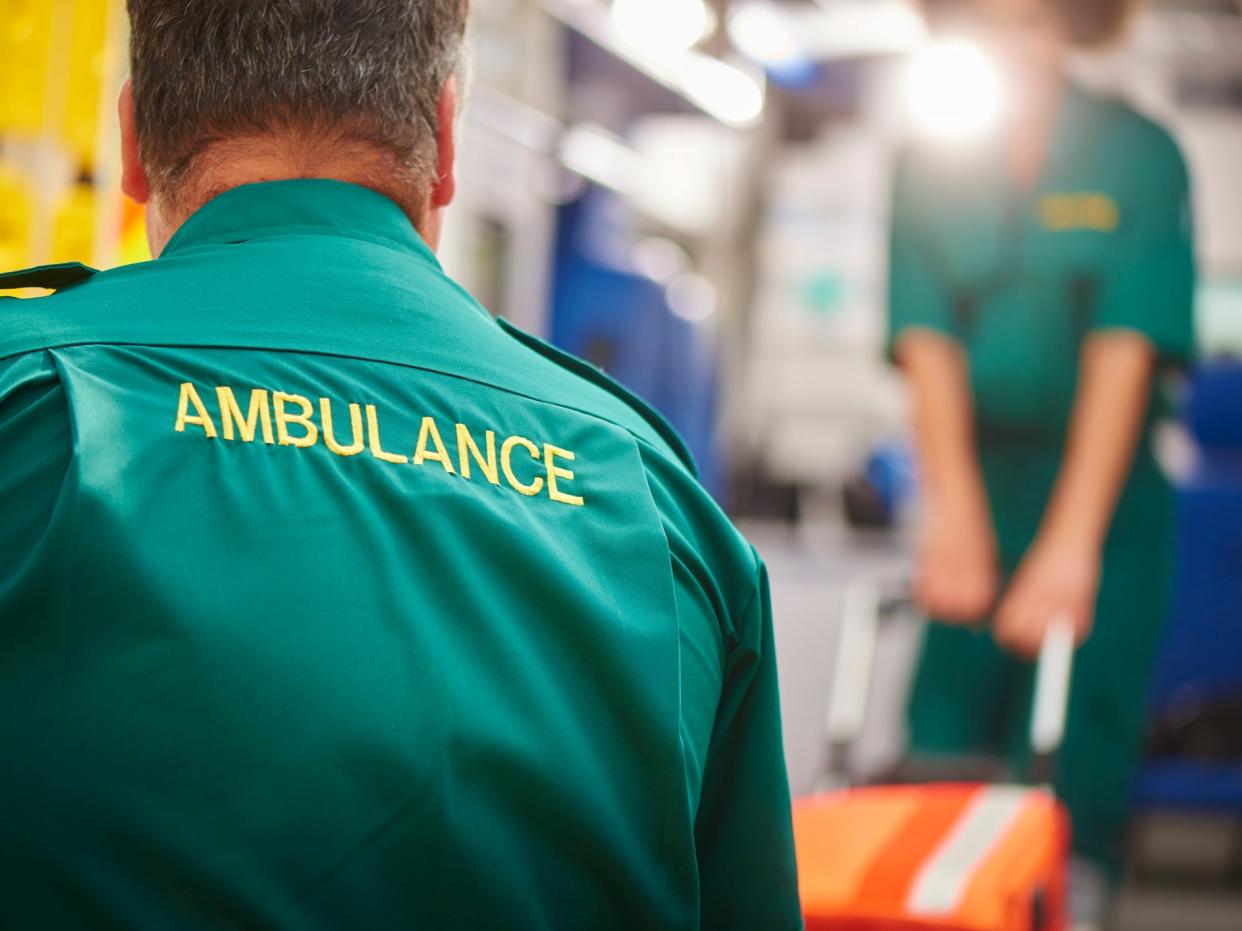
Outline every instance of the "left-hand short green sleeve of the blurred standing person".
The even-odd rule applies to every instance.
[[[922,195],[915,161],[910,153],[904,153],[897,163],[889,220],[886,344],[889,359],[899,338],[909,329],[958,336],[953,307],[927,243]]]

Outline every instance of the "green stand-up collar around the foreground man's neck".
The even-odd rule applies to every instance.
[[[344,181],[296,179],[232,187],[181,223],[160,256],[267,236],[340,236],[409,252],[440,269],[414,223],[381,194]]]

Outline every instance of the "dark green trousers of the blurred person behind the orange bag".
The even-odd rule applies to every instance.
[[[1035,539],[1059,453],[985,448],[1002,572]],[[1170,489],[1144,451],[1103,554],[1090,638],[1074,660],[1057,791],[1074,824],[1074,853],[1115,870],[1139,762],[1146,684],[1164,626],[1172,566]],[[991,632],[933,624],[910,698],[912,751],[1004,753],[1026,775],[1033,664]]]

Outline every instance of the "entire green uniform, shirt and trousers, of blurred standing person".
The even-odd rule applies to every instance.
[[[1013,190],[996,151],[912,150],[893,211],[889,351],[909,328],[968,355],[1002,569],[1035,539],[1064,446],[1082,340],[1144,334],[1169,362],[1194,353],[1186,169],[1155,124],[1068,88],[1043,178]],[[1097,626],[1073,681],[1059,791],[1076,849],[1115,863],[1165,619],[1170,490],[1151,453],[1153,401],[1104,552]],[[910,699],[917,753],[1023,757],[1031,670],[986,632],[933,626]]]

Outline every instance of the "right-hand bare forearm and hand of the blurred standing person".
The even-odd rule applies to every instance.
[[[1084,641],[1099,590],[1100,554],[1134,463],[1156,353],[1133,330],[1088,336],[1056,488],[1035,545],[996,614],[996,639],[1035,655],[1053,617],[1069,614]]]

